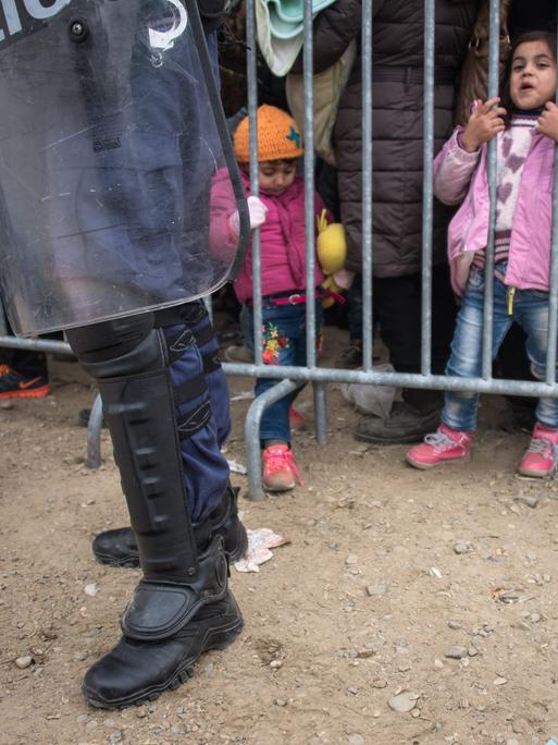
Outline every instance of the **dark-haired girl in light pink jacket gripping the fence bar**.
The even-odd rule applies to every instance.
[[[503,105],[475,101],[434,162],[434,192],[461,204],[451,220],[448,253],[454,290],[462,296],[447,375],[480,377],[484,260],[488,235],[487,145],[497,137],[493,357],[511,323],[528,335],[533,375],[545,379],[553,224],[553,176],[558,142],[556,38],[540,32],[519,37],[511,50]],[[466,196],[467,195],[467,196]],[[437,431],[411,448],[417,468],[468,461],[479,395],[448,392]],[[558,399],[541,399],[531,443],[519,472],[547,476],[558,463]]]

